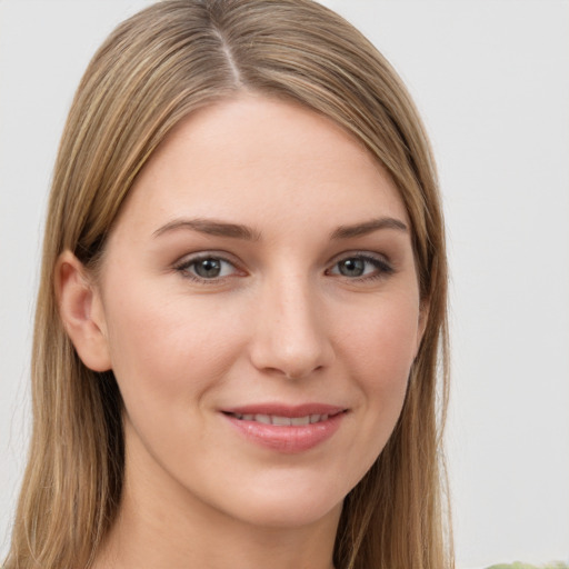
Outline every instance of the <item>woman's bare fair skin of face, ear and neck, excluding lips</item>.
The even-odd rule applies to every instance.
[[[70,252],[58,268],[66,328],[126,407],[123,501],[97,568],[332,566],[342,500],[392,432],[422,336],[406,228],[389,176],[310,110],[241,94],[170,133],[97,280]],[[200,279],[197,254],[224,259],[220,274]],[[290,453],[222,412],[258,402],[346,412]]]

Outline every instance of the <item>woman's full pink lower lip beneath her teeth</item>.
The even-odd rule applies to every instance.
[[[224,417],[252,442],[284,453],[303,452],[328,440],[339,429],[345,412],[302,426],[277,426],[244,421],[231,415]]]

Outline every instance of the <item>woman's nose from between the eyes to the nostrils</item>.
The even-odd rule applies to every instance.
[[[257,369],[302,379],[330,366],[335,352],[325,307],[306,279],[267,283],[258,300],[250,347]]]

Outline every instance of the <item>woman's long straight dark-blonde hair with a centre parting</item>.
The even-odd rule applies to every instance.
[[[433,161],[385,58],[310,0],[167,0],[107,39],[79,86],[56,162],[32,359],[33,432],[7,569],[89,567],[120,505],[121,397],[63,331],[54,266],[93,267],[130,188],[190,112],[242,90],[300,102],[343,127],[390,172],[412,226],[427,329],[402,413],[345,501],[338,569],[452,567],[442,468],[447,264]]]

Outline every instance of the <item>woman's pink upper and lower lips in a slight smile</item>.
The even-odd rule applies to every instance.
[[[347,415],[343,407],[325,403],[287,406],[281,403],[259,403],[222,409],[223,417],[247,440],[267,449],[297,453],[310,450],[335,435]],[[264,415],[299,418],[312,415],[328,416],[327,419],[309,425],[267,425],[237,416]]]

